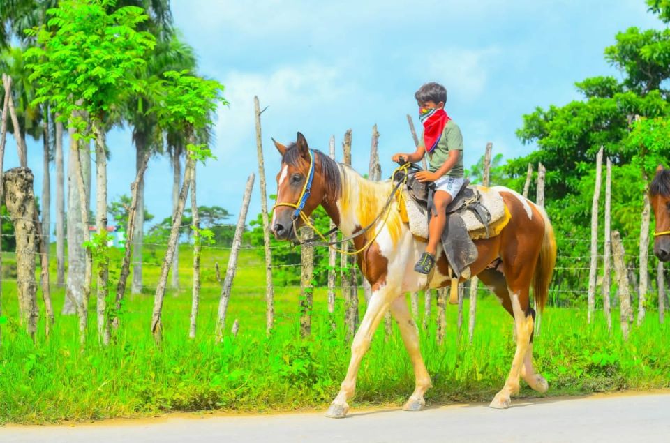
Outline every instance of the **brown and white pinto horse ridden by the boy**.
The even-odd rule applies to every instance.
[[[310,149],[301,133],[297,135],[297,142],[288,146],[274,144],[282,155],[281,170],[277,174],[277,204],[271,222],[276,239],[296,241],[297,228],[319,205],[343,235],[355,236],[364,231],[355,236],[353,242],[356,250],[360,250],[358,266],[372,287],[372,296],[351,345],[346,377],[327,416],[341,418],[347,414],[347,402],[354,396],[361,360],[388,310],[398,322],[414,366],[415,390],[403,409],[422,410],[426,405],[424,393],[432,386],[431,377],[419,350],[418,329],[405,294],[448,285],[445,254],[438,247],[432,275],[414,271],[413,266],[426,243],[415,239],[408,225],[401,221],[395,200],[389,199],[391,181],[364,179],[349,166]],[[542,207],[511,189],[498,187],[496,190],[512,218],[498,236],[475,241],[479,256],[470,269],[514,318],[516,353],[512,368],[505,386],[490,405],[504,409],[509,407],[510,397],[519,393],[519,377],[535,391],[545,392],[549,388],[544,377],[533,368],[535,310],[530,307],[530,287],[533,286],[537,306],[542,310],[556,263],[556,241]],[[387,213],[380,217],[383,211]],[[370,225],[370,229],[364,230]]]

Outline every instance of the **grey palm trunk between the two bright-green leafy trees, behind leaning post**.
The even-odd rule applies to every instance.
[[[147,169],[149,151],[147,149],[147,134],[137,133],[135,137],[135,173],[140,177],[137,183],[137,204],[133,233],[126,232],[126,241],[133,241],[133,280],[131,280],[131,294],[142,293],[142,243],[144,243],[144,170]],[[142,173],[140,174],[140,170]],[[125,285],[125,283],[124,283]]]

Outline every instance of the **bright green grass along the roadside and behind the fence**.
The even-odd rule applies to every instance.
[[[145,251],[157,264],[162,250]],[[325,409],[338,391],[350,356],[343,338],[343,303],[337,299],[336,331],[329,329],[325,290],[316,290],[312,338],[299,339],[297,290],[276,287],[276,328],[265,338],[265,273],[254,251],[242,251],[228,311],[228,326],[239,319],[237,337],[214,343],[219,289],[214,262],[225,273],[228,251],[207,249],[202,260],[203,290],[198,338],[188,340],[191,306],[191,253],[181,250],[180,291],[168,292],[163,310],[164,342],[149,331],[153,291],[160,267],[145,266],[145,294],[128,296],[117,343],[98,345],[94,300],[89,345],[81,352],[77,319],[59,315],[62,290],[52,294],[56,324],[47,339],[40,319],[37,343],[17,324],[15,283],[3,281],[0,347],[0,423],[52,423],[118,416],[146,416],[195,410]],[[3,255],[5,278],[12,257]],[[55,280],[54,272],[52,279]],[[38,294],[38,297],[40,294]],[[93,297],[94,298],[94,297]],[[360,297],[362,299],[362,296]],[[362,300],[361,300],[362,301]],[[468,302],[464,308],[468,312]],[[364,302],[361,303],[361,315]],[[627,343],[618,322],[612,333],[597,315],[586,326],[586,309],[548,308],[535,338],[537,370],[549,380],[547,395],[670,386],[670,331],[648,310],[646,322],[632,327]],[[433,306],[433,316],[435,307]],[[618,313],[613,317],[618,319]],[[467,318],[466,318],[467,324]],[[399,331],[375,336],[359,371],[353,407],[401,405],[414,377]],[[447,338],[435,345],[435,322],[421,333],[422,354],[433,377],[429,403],[491,400],[504,383],[514,354],[512,320],[494,297],[477,304],[474,343],[456,331],[456,307],[447,307]],[[521,396],[537,395],[524,387]]]

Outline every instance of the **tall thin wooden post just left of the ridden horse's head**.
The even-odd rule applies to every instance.
[[[260,213],[263,220],[263,245],[265,247],[265,333],[269,335],[274,326],[274,286],[272,285],[272,252],[270,249],[270,230],[267,216],[267,191],[265,188],[265,161],[260,131],[260,104],[258,96],[253,97],[256,119],[256,153],[258,154],[258,179],[260,181]]]

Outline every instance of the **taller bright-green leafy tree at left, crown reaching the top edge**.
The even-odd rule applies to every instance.
[[[57,8],[47,10],[50,18],[46,26],[27,30],[28,36],[36,38],[36,45],[26,53],[33,61],[28,65],[34,71],[30,80],[38,83],[34,103],[51,103],[59,119],[75,127],[75,140],[96,141],[98,233],[87,253],[89,281],[80,302],[80,329],[84,340],[94,253],[98,261],[98,333],[105,343],[109,340],[105,123],[126,94],[144,89],[144,82],[133,74],[146,63],[144,54],[155,45],[154,36],[137,31],[137,25],[147,20],[142,8],[126,6],[110,12],[116,4],[116,0],[61,0]]]

